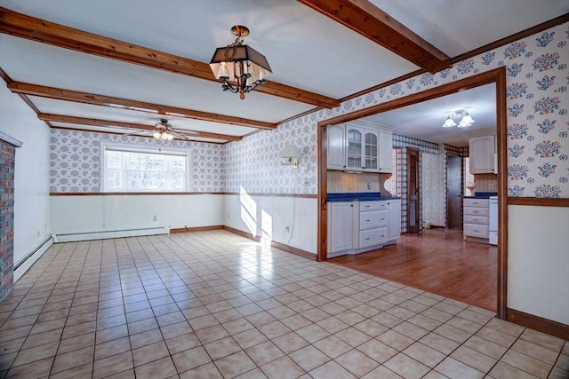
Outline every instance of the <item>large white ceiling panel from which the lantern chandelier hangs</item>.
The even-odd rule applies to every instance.
[[[232,26],[244,25],[251,29],[245,44],[272,68],[268,80],[334,99],[418,68],[293,0],[4,3],[16,12],[205,63],[216,47],[235,40]]]

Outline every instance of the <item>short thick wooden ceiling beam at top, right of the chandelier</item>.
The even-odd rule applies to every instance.
[[[400,57],[435,74],[451,58],[367,0],[298,0]]]

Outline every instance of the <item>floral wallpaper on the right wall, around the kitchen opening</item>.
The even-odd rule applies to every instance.
[[[568,42],[569,28],[565,23],[465,59],[435,75],[417,75],[345,101],[341,107],[319,110],[280,125],[276,130],[263,131],[231,143],[227,148],[227,162],[239,168],[239,172],[231,174],[228,190],[235,191],[237,183],[254,183],[253,178],[259,175],[268,178],[269,186],[259,186],[258,192],[292,193],[293,173],[280,170],[280,166],[276,168],[277,151],[284,143],[295,142],[304,149],[309,162],[316,162],[317,122],[493,68],[506,67],[509,196],[569,197]],[[276,151],[271,149],[264,155],[266,159],[257,160],[262,162],[252,160],[252,154],[247,152],[259,149],[257,146],[265,143],[275,146]],[[256,162],[255,169],[247,167],[252,166],[252,162]],[[310,167],[310,171],[316,173],[316,166]],[[315,175],[310,177],[315,178]],[[278,185],[273,184],[274,180]],[[305,187],[303,191],[317,193],[317,186]]]

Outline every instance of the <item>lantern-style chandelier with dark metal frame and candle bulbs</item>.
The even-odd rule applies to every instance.
[[[223,91],[239,92],[239,98],[245,99],[245,92],[263,85],[265,77],[272,72],[264,55],[243,44],[244,37],[249,36],[248,28],[236,25],[231,33],[236,36],[235,42],[215,49],[210,67],[223,83]]]

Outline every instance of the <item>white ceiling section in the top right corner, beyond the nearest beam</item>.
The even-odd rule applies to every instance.
[[[567,0],[370,0],[450,57],[569,12]]]

